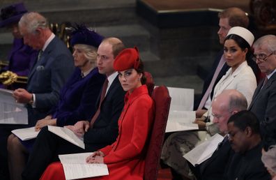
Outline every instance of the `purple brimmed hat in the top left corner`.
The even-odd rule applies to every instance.
[[[15,3],[1,9],[0,13],[0,27],[6,27],[20,21],[24,13],[27,13],[24,3]]]

